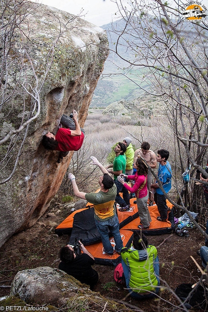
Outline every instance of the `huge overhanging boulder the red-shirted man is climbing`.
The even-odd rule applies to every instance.
[[[0,246],[12,234],[32,226],[57,193],[73,152],[58,164],[59,152],[46,151],[42,136],[48,131],[56,133],[62,114],[73,109],[84,126],[108,55],[101,28],[46,5],[20,3],[16,11],[24,18],[17,19],[18,27],[11,33],[9,70],[4,71],[1,86],[6,100],[0,107],[0,138],[38,112],[31,94],[40,96],[40,113],[27,130],[0,145],[1,181],[12,174],[19,153],[14,175],[0,185]],[[7,10],[13,10],[12,4],[5,14]]]

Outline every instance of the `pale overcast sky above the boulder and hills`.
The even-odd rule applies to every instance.
[[[118,11],[118,8],[115,2],[111,0],[38,0],[38,2],[54,6],[59,10],[74,15],[78,15],[83,9],[81,14],[82,18],[97,26],[108,24],[117,18],[115,13]],[[171,0],[169,2],[171,2]],[[185,2],[189,3],[190,0],[184,0],[184,3]],[[208,9],[208,0],[198,0],[198,2],[204,4]],[[85,15],[85,17],[83,15]]]

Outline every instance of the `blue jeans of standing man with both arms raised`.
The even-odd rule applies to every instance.
[[[119,232],[119,219],[117,215],[108,220],[98,221],[95,219],[95,224],[98,229],[98,232],[101,235],[102,243],[104,246],[104,251],[107,253],[113,253],[114,249],[110,243],[108,229],[112,233],[115,241],[115,250],[120,251],[123,248],[123,242],[120,237]]]

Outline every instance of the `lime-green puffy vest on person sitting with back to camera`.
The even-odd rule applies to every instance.
[[[121,257],[129,268],[129,286],[134,292],[154,291],[158,285],[153,267],[157,257],[155,246],[149,245],[145,250],[128,249],[124,252],[121,251]]]

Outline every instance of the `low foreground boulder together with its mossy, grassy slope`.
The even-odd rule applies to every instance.
[[[22,308],[23,302],[26,302],[27,308]],[[106,299],[100,293],[92,292],[88,285],[80,283],[59,269],[48,266],[18,272],[13,280],[10,296],[0,302],[1,307],[7,310],[8,306],[12,306],[13,309],[14,306],[18,306],[21,308],[20,311],[31,311],[28,304],[48,306],[49,309],[44,309],[45,311],[56,311],[54,306],[66,308],[66,311],[104,311],[106,309],[106,311],[117,312],[127,309],[122,302],[117,303]],[[41,307],[36,308],[39,311],[42,310]],[[133,312],[130,308],[127,310]]]

